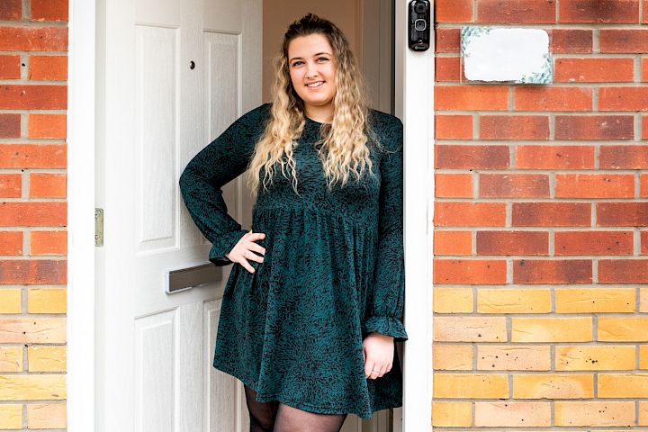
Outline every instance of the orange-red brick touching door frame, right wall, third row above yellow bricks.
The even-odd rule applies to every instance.
[[[437,227],[503,227],[504,202],[435,202]]]

